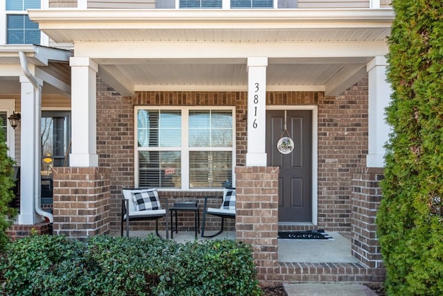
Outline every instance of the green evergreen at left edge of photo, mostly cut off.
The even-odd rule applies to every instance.
[[[16,210],[10,207],[10,202],[15,198],[12,192],[15,184],[15,162],[8,156],[8,146],[6,146],[6,136],[2,126],[2,119],[0,119],[0,251],[9,241],[6,230],[12,225],[12,219],[17,214]]]

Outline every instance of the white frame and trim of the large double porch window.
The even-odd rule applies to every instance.
[[[168,148],[169,151],[181,151],[181,188],[168,188],[168,189],[159,189],[159,191],[220,191],[220,189],[195,189],[189,188],[189,152],[190,149],[188,147],[188,119],[189,119],[189,111],[190,110],[230,110],[233,112],[233,159],[232,159],[232,168],[233,168],[233,186],[235,186],[235,164],[236,164],[236,155],[237,155],[237,146],[236,146],[236,132],[235,132],[235,107],[234,106],[136,106],[134,107],[134,185],[138,187],[138,151],[141,150],[153,150],[152,148],[139,148],[137,145],[138,139],[138,128],[137,128],[137,113],[138,110],[180,110],[181,111],[181,147],[177,148]],[[186,115],[186,116],[183,116]],[[203,149],[203,148],[202,148]],[[155,148],[154,148],[155,150]],[[161,150],[161,149],[159,149]],[[192,148],[192,150],[196,150],[196,148]],[[198,150],[198,149],[197,149]],[[204,150],[207,150],[204,148]],[[211,148],[211,150],[215,151],[218,148]],[[219,150],[225,151],[226,149],[220,148]]]

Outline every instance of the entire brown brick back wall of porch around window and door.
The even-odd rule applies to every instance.
[[[111,168],[111,230],[120,227],[121,189],[134,186],[134,106],[235,106],[237,166],[246,163],[246,92],[138,92],[123,97],[98,79],[98,154],[99,165]],[[272,92],[266,105],[318,106],[318,228],[350,232],[352,212],[352,173],[365,166],[368,153],[368,80],[365,78],[343,95],[325,97],[323,92]],[[204,195],[221,192],[200,192]],[[194,192],[161,192],[170,204]],[[201,196],[201,197],[200,197]],[[185,214],[186,215],[186,214]],[[179,227],[193,226],[192,213]],[[228,220],[229,221],[229,220]],[[149,222],[148,222],[149,223]],[[153,223],[150,223],[153,225]],[[146,223],[132,223],[146,229]],[[211,225],[208,225],[211,227]],[[228,227],[232,227],[230,224]],[[142,228],[143,227],[143,228]],[[282,229],[308,229],[309,226],[284,226]]]

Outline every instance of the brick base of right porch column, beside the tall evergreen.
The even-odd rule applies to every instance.
[[[375,225],[382,179],[382,168],[361,168],[352,177],[352,256],[370,268],[383,266]]]

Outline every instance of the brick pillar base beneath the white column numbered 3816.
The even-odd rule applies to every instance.
[[[257,279],[279,278],[278,167],[237,166],[235,237],[253,247]]]

